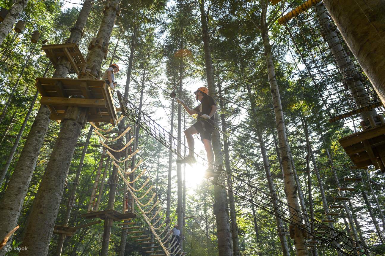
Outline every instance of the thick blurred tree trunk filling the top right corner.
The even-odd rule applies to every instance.
[[[323,1],[353,55],[385,102],[385,0]]]

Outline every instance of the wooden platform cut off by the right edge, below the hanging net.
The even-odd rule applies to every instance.
[[[357,168],[374,165],[385,172],[385,124],[353,133],[339,142]]]

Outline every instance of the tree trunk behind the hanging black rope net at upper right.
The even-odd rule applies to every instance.
[[[323,35],[328,42],[331,53],[333,54],[334,60],[337,64],[337,68],[345,80],[344,85],[349,88],[349,91],[352,95],[351,98],[353,98],[357,108],[368,106],[370,96],[368,95],[368,92],[365,89],[363,82],[361,81],[363,78],[362,74],[358,72],[349,55],[343,49],[336,33],[336,28],[326,13],[326,9],[323,3],[316,4],[315,9],[321,23]],[[368,116],[376,116],[377,112],[372,109],[369,111],[364,111],[360,115],[363,121],[369,123]]]

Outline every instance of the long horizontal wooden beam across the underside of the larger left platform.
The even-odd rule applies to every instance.
[[[53,106],[79,106],[87,108],[104,108],[105,100],[82,98],[42,97],[40,104]]]

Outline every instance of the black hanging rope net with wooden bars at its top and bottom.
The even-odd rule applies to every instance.
[[[305,2],[279,23],[285,24],[298,54],[298,67],[314,84],[330,122],[357,118],[382,105],[320,0]]]

